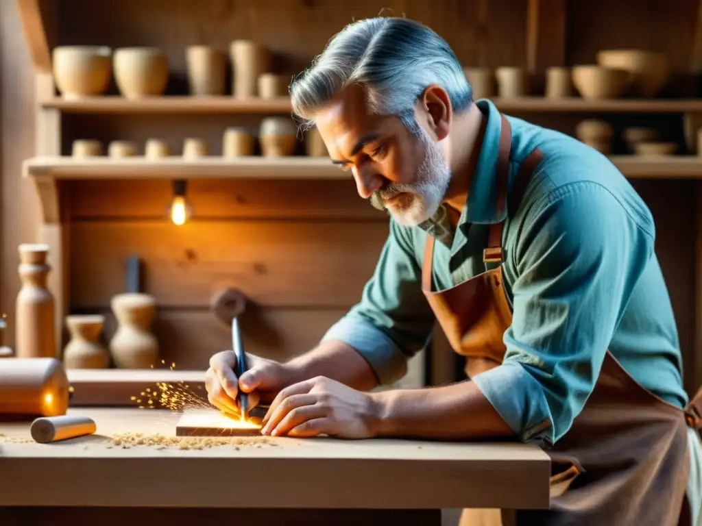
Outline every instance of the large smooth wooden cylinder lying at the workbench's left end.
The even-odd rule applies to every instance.
[[[0,413],[66,414],[69,383],[57,358],[7,358],[0,367]]]

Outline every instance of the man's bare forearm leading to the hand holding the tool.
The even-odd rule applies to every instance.
[[[328,340],[301,356],[287,367],[293,372],[293,383],[324,376],[358,391],[369,391],[378,385],[371,365],[352,346]]]

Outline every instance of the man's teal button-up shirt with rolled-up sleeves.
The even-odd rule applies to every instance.
[[[418,227],[391,219],[360,302],[323,338],[357,349],[381,384],[405,374],[407,358],[425,346],[435,323],[421,290],[428,232],[437,238],[434,290],[443,290],[486,270],[489,225],[508,216],[495,210],[500,114],[489,100],[476,104],[489,119],[455,232],[440,217]],[[642,386],[686,405],[675,317],[649,209],[606,156],[555,130],[507,119],[510,188],[534,147],[544,159],[518,210],[509,210],[503,232],[513,318],[503,335],[505,359],[473,381],[519,438],[550,444],[583,409],[606,349]]]

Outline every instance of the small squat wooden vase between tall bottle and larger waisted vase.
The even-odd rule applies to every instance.
[[[105,316],[66,316],[66,325],[71,339],[63,349],[63,366],[66,369],[107,369],[110,353],[100,343]]]

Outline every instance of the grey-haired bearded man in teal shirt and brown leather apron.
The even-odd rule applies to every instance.
[[[616,167],[473,101],[448,44],[402,18],[347,26],[291,98],[388,210],[389,236],[317,348],[249,356],[241,379],[231,351],[213,356],[211,403],[235,410],[237,389],[272,402],[273,435],[536,441],[552,506],[519,511],[530,524],[698,520],[700,443],[654,220]],[[435,321],[469,379],[369,393],[404,375]]]

